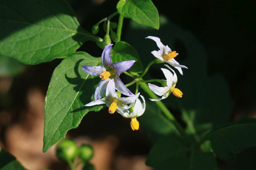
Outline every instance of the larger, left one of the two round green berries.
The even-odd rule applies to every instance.
[[[56,148],[56,156],[63,161],[74,160],[77,156],[77,144],[71,139],[61,141]]]

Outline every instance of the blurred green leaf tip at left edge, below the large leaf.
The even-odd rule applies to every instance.
[[[15,76],[24,70],[25,66],[8,56],[0,55],[0,77]]]

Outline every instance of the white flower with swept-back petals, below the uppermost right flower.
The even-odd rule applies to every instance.
[[[167,68],[171,69],[168,65],[165,65],[165,66]],[[175,88],[178,79],[177,79],[177,75],[174,72],[174,70],[171,69],[174,74],[172,74],[170,72],[170,70],[168,70],[168,69],[161,68],[161,70],[163,71],[163,73],[165,75],[165,78],[166,78],[166,81],[167,81],[167,87],[158,87],[154,84],[148,83],[148,87],[154,93],[156,93],[156,95],[162,96],[162,98],[157,98],[157,99],[150,98],[150,100],[151,101],[160,101],[162,99],[167,98],[170,95],[170,93],[173,93],[174,96],[182,97],[183,93],[178,88]]]

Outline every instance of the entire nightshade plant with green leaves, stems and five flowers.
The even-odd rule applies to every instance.
[[[171,23],[163,31],[159,29],[159,14],[151,0],[120,0],[116,8],[109,17],[96,21],[90,33],[79,25],[73,9],[64,0],[0,0],[1,56],[30,65],[63,58],[52,74],[45,98],[43,152],[65,138],[68,130],[77,128],[88,112],[100,111],[105,105],[110,114],[118,112],[124,118],[131,118],[132,130],[140,127],[152,137],[146,165],[157,170],[217,170],[217,158],[233,161],[242,150],[256,146],[255,119],[242,116],[227,123],[232,109],[228,87],[222,77],[205,74],[205,53],[195,37]],[[119,17],[117,24],[112,19],[115,16]],[[142,30],[137,36],[138,50],[146,46],[145,37],[154,40],[160,50],[148,46],[148,51],[139,56],[133,46],[121,41],[124,18],[132,19],[133,25],[137,23],[136,28]],[[142,36],[148,33],[145,26],[159,31],[149,29],[152,34]],[[129,36],[135,36],[136,30],[129,29]],[[106,32],[103,38],[95,35],[100,31]],[[179,40],[189,54],[184,61],[189,69],[184,75],[180,75],[182,68],[187,67],[174,60],[178,53],[153,36],[161,32],[164,32],[162,40],[164,36],[170,38],[168,45],[172,49],[174,38],[183,36]],[[95,50],[103,51],[102,56],[76,52],[86,41],[96,43]],[[152,60],[145,69],[141,62],[143,55]],[[184,95],[175,87],[178,76],[169,65],[166,69],[165,63],[178,69],[178,76],[182,77],[179,89]],[[146,73],[153,64],[160,65],[166,80],[145,78],[150,77]],[[133,80],[124,84],[119,78],[122,73]],[[132,85],[135,90],[131,92],[128,88]],[[176,120],[170,112],[172,109],[180,111],[182,120]],[[184,126],[180,125],[181,121]],[[0,151],[0,160],[8,154]],[[1,163],[0,168],[25,169],[9,157],[12,160]]]

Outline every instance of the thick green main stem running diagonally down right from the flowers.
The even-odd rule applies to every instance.
[[[150,88],[147,86],[144,82],[139,82],[140,87],[150,96],[151,98],[157,98],[154,92],[150,90]],[[175,129],[178,130],[178,132],[186,139],[186,141],[191,142],[191,139],[187,135],[187,133],[184,131],[184,129],[180,126],[180,124],[177,122],[177,120],[174,118],[172,113],[167,109],[167,107],[163,104],[161,101],[155,101],[155,104],[163,111],[164,115],[169,119],[170,122],[175,126]]]

